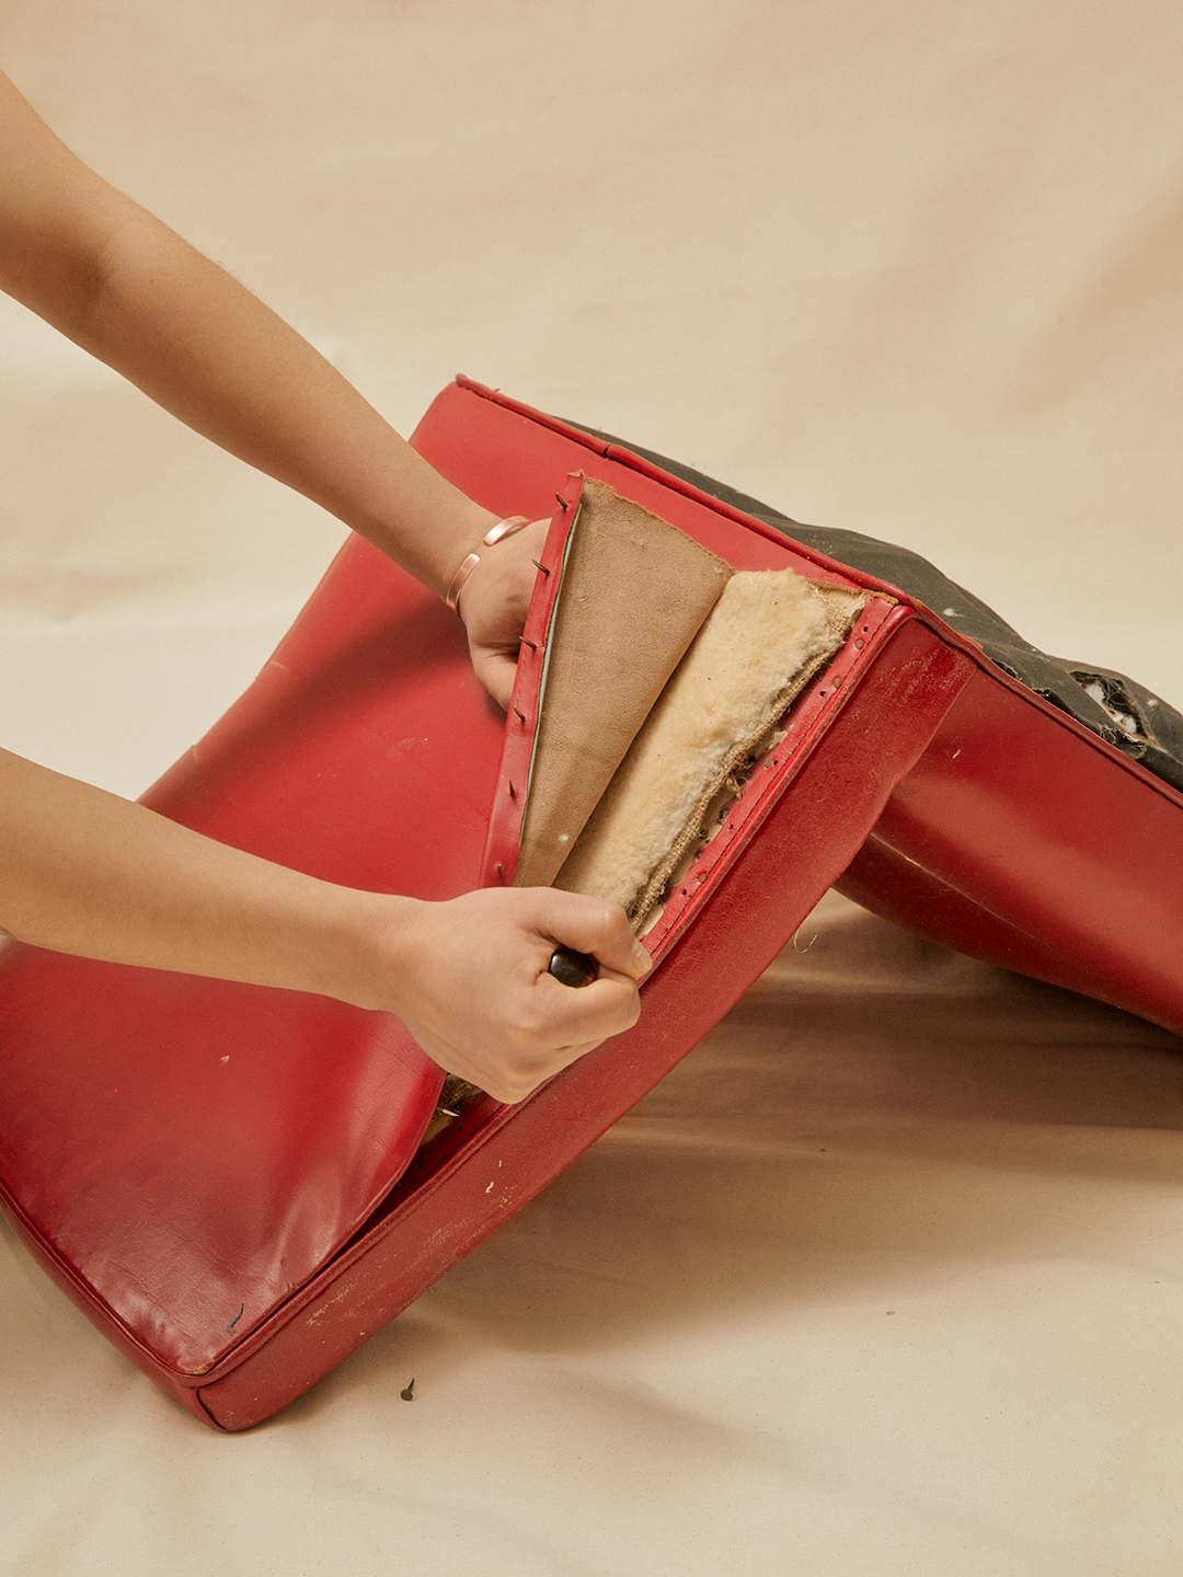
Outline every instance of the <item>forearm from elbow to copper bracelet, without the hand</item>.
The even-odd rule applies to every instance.
[[[132,207],[71,337],[166,410],[312,498],[437,595],[495,520],[295,330]]]

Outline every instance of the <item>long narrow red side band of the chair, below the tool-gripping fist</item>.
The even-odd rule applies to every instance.
[[[803,762],[645,986],[636,1028],[527,1102],[502,1107],[427,1175],[412,1164],[390,1214],[317,1277],[289,1322],[202,1385],[202,1405],[221,1429],[249,1429],[308,1389],[533,1199],[718,1023],[853,858],[972,672],[916,618],[894,626],[825,749]],[[890,730],[885,716],[896,719]]]

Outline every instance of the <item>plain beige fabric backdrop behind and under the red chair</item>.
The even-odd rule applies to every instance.
[[[0,0],[0,65],[404,432],[467,371],[1183,700],[1177,6]],[[0,445],[0,740],[137,793],[341,528],[6,301]],[[798,945],[249,1437],[0,1238],[0,1569],[1177,1574],[1180,1044]]]

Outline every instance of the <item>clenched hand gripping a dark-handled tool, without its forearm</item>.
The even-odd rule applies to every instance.
[[[497,1101],[525,1099],[637,1022],[650,959],[618,905],[552,888],[404,904],[396,1000],[368,1005],[393,1008],[431,1058]],[[560,943],[593,953],[599,979],[560,986],[547,973]]]

